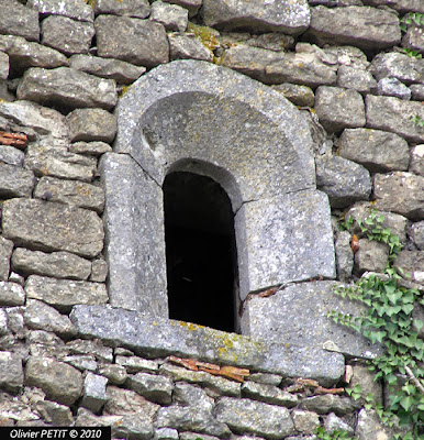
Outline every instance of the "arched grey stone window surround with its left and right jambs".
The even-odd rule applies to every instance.
[[[138,79],[116,117],[114,153],[101,164],[112,306],[167,317],[161,186],[172,169],[196,169],[227,193],[242,301],[270,286],[335,277],[309,128],[280,94],[213,64],[178,61]]]

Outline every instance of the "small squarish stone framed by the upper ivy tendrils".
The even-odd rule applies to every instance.
[[[355,254],[355,270],[364,272],[384,272],[388,264],[389,246],[368,239],[359,240],[359,249]]]

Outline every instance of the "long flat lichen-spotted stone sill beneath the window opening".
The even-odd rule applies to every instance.
[[[100,338],[144,356],[174,354],[283,376],[311,377],[325,385],[336,383],[345,371],[342,354],[316,345],[286,345],[283,340],[268,344],[260,339],[109,306],[75,306],[70,319],[80,337]]]

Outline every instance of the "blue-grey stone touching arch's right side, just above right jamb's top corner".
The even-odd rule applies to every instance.
[[[316,186],[326,193],[333,208],[368,200],[371,193],[369,172],[364,166],[331,155],[316,157]]]

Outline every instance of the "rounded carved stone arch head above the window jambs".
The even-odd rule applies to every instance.
[[[194,160],[233,176],[239,188],[234,209],[315,187],[302,113],[281,94],[225,67],[161,65],[130,87],[116,117],[115,151],[130,154],[159,185],[175,163]]]

